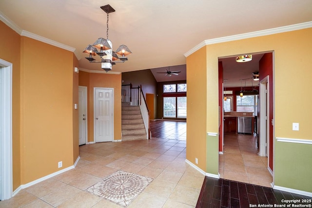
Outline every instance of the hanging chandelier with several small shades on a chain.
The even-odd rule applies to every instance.
[[[89,57],[86,57],[86,59],[88,59],[90,63],[101,63],[101,68],[108,72],[112,70],[112,65],[116,63],[124,63],[126,60],[128,60],[126,56],[132,54],[132,52],[126,45],[120,45],[116,52],[113,51],[112,41],[108,39],[108,18],[109,13],[115,12],[115,9],[109,4],[101,6],[100,8],[107,14],[106,39],[98,38],[95,43],[88,45],[83,53],[89,54]],[[96,59],[92,57],[96,55],[101,58],[100,61],[96,61]],[[118,55],[121,57],[118,57]],[[117,59],[120,61],[116,61]]]

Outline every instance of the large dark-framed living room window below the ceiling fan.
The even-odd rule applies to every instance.
[[[163,117],[186,118],[186,84],[165,84],[163,93]]]

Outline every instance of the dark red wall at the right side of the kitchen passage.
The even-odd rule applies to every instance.
[[[260,81],[269,76],[269,167],[273,170],[273,53],[264,54],[259,61]]]

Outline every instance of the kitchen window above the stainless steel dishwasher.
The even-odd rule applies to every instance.
[[[236,111],[240,112],[254,112],[257,113],[257,96],[258,95],[244,95],[236,96]]]

